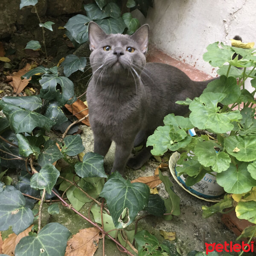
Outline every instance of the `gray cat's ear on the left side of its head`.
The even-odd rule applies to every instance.
[[[107,37],[107,34],[99,27],[98,24],[96,24],[93,21],[91,21],[88,25],[88,35],[91,51],[96,49],[97,45],[99,43],[102,43],[102,40],[104,40]]]

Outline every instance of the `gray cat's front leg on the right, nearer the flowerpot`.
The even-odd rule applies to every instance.
[[[115,160],[111,173],[118,171],[123,175],[125,171],[125,165],[133,148],[133,143],[133,140],[128,143],[116,143]]]

